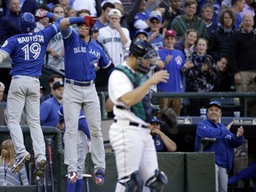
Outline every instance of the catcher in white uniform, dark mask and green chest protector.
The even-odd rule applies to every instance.
[[[157,53],[147,41],[133,41],[130,55],[108,80],[108,94],[114,103],[115,123],[110,126],[109,140],[116,155],[118,180],[116,192],[163,191],[168,180],[158,170],[156,148],[148,128],[152,117],[149,89],[166,82],[169,74],[160,70],[148,78],[155,68]]]

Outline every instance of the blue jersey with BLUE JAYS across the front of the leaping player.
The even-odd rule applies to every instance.
[[[65,46],[65,76],[76,81],[91,81],[96,77],[96,66],[108,68],[111,61],[103,48],[92,38],[89,43],[71,28],[69,33],[61,33]],[[68,34],[68,36],[67,36]]]

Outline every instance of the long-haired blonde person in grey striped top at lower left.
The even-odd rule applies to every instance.
[[[14,161],[14,146],[12,140],[4,140],[1,144],[0,186],[28,186],[26,166],[23,165],[20,172],[12,172],[11,169]]]

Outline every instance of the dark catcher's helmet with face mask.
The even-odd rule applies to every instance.
[[[151,69],[156,67],[157,52],[154,47],[145,40],[134,40],[130,45],[130,53],[138,60],[138,71],[147,74]],[[149,61],[149,66],[144,61]]]

